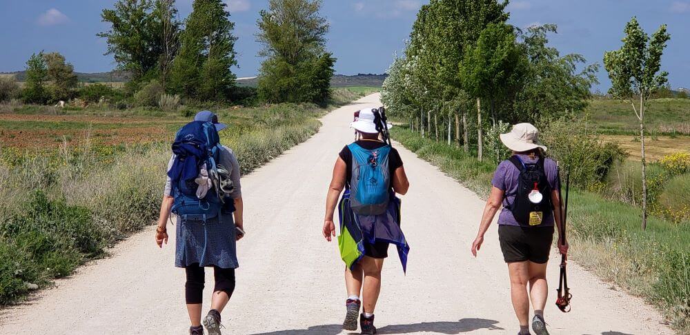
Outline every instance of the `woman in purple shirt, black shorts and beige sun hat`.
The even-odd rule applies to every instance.
[[[551,251],[553,224],[562,231],[558,167],[551,159],[544,158],[546,147],[538,143],[538,134],[533,125],[520,123],[513,126],[511,132],[500,135],[513,156],[502,161],[493,174],[491,195],[471,250],[477,256],[484,243],[484,233],[503,206],[498,216],[498,237],[504,261],[508,264],[511,300],[517,321],[520,321],[521,335],[530,334],[530,301],[535,314],[532,329],[538,335],[549,334],[544,321],[548,295],[546,262]],[[566,255],[567,241],[562,241],[563,244],[560,239],[558,241],[560,253]]]

